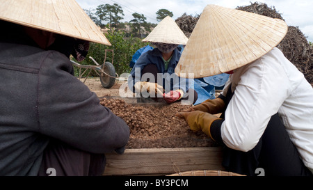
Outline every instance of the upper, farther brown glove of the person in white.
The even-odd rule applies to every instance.
[[[192,106],[185,111],[204,111],[211,114],[222,113],[225,108],[224,100],[216,98],[214,100],[205,100],[201,104]]]

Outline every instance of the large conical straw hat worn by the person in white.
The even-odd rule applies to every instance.
[[[179,76],[193,73],[190,77],[202,78],[240,68],[278,45],[287,30],[281,19],[208,5],[175,72]]]

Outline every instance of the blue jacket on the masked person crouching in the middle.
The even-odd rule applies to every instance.
[[[181,55],[182,51],[179,50],[179,48],[176,48],[172,54],[172,58],[170,59],[168,70],[165,70],[164,61],[159,49],[154,48],[144,54],[141,54],[138,61],[135,63],[134,68],[130,72],[131,75],[128,79],[129,88],[134,92],[134,84],[136,84],[137,81],[141,81],[141,71],[143,68],[145,68],[148,64],[154,64],[157,65],[158,73],[163,74],[163,88],[166,92],[169,90],[181,89],[184,93],[186,93],[186,90],[188,90],[188,79],[178,77],[177,74],[175,74],[175,68]],[[140,69],[140,76],[135,73],[136,69]]]

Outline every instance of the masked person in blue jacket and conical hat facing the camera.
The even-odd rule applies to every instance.
[[[152,42],[157,48],[142,54],[130,72],[128,85],[134,93],[168,104],[179,100],[194,103],[198,94],[189,88],[188,79],[178,77],[175,68],[182,54],[179,45],[188,38],[175,21],[167,16],[147,35],[143,42]],[[163,79],[165,80],[163,82]]]

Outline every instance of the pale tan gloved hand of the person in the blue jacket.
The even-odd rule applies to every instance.
[[[162,97],[163,96],[163,87],[157,83],[138,81],[134,85],[134,88],[138,92],[147,91],[150,94],[150,97]]]

